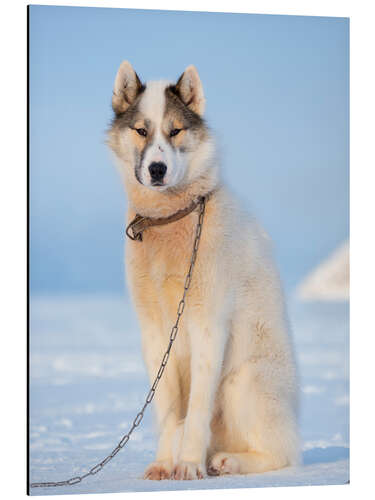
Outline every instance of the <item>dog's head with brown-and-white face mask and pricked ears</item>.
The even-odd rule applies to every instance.
[[[171,84],[142,84],[124,61],[112,97],[109,146],[126,180],[155,191],[176,190],[204,175],[213,143],[202,118],[205,98],[194,66]]]

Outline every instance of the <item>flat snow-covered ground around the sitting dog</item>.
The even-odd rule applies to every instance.
[[[118,296],[30,301],[30,479],[60,481],[102,460],[144,402],[148,380],[133,310]],[[301,376],[303,465],[201,481],[145,481],[152,410],[96,476],[33,495],[344,484],[349,480],[349,306],[300,303],[290,316]]]

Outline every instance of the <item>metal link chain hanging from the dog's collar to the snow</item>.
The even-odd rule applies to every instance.
[[[195,231],[195,239],[194,239],[194,246],[193,246],[193,251],[191,254],[191,259],[190,259],[190,266],[189,266],[189,271],[186,275],[185,278],[185,284],[184,284],[184,293],[182,295],[182,299],[180,300],[178,307],[177,307],[177,319],[175,324],[172,327],[170,337],[169,337],[169,344],[167,347],[167,350],[164,353],[164,356],[162,358],[162,361],[160,363],[159,370],[156,374],[155,380],[151,386],[151,389],[149,390],[145,404],[143,405],[141,411],[137,413],[135,419],[133,420],[133,424],[127,434],[125,434],[122,438],[121,441],[118,443],[116,448],[113,449],[113,451],[104,458],[101,462],[96,464],[94,467],[92,467],[86,474],[83,474],[82,476],[76,476],[72,477],[70,479],[67,479],[65,481],[57,481],[57,482],[45,482],[45,483],[31,483],[30,487],[31,488],[43,488],[43,487],[54,487],[54,486],[70,486],[73,484],[80,483],[83,479],[85,479],[88,476],[93,476],[97,474],[99,471],[102,470],[102,468],[110,461],[114,456],[117,455],[117,453],[126,445],[126,443],[129,441],[130,436],[134,429],[138,427],[138,425],[141,423],[143,419],[144,412],[147,408],[147,406],[151,403],[153,400],[153,397],[155,395],[156,387],[158,386],[158,383],[163,375],[164,369],[167,365],[168,359],[169,359],[169,354],[173,345],[173,342],[176,339],[177,332],[178,332],[178,325],[182,316],[182,313],[184,312],[185,309],[185,299],[187,292],[189,290],[190,284],[191,284],[191,278],[193,274],[193,269],[194,269],[194,264],[197,258],[197,253],[198,253],[198,247],[199,247],[199,242],[200,242],[200,237],[202,234],[202,225],[203,225],[203,218],[204,218],[204,211],[205,211],[205,203],[206,199],[204,197],[201,197],[199,200],[199,219]]]

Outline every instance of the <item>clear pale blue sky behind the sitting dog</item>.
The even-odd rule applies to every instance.
[[[200,73],[233,190],[291,290],[349,234],[349,20],[30,7],[30,290],[122,292],[126,195],[104,143],[121,61]]]

